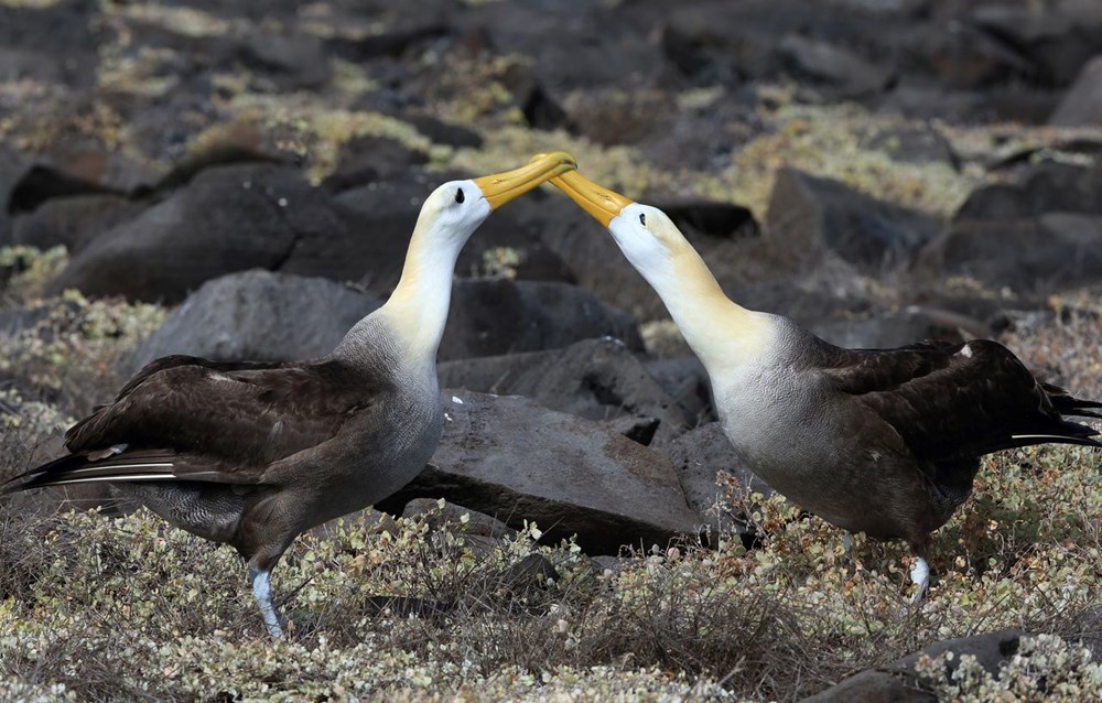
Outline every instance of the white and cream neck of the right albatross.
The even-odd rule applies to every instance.
[[[661,271],[642,271],[709,376],[761,358],[770,342],[766,315],[732,302],[692,247]]]

